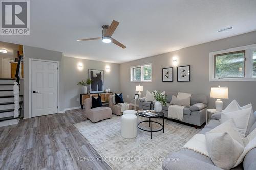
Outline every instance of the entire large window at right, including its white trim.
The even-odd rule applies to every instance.
[[[209,81],[256,81],[256,44],[209,53]]]

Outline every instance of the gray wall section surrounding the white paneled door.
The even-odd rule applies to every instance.
[[[41,60],[52,60],[52,61],[60,61],[60,66],[63,65],[62,61],[62,52],[46,50],[42,48],[36,48],[31,46],[24,46],[24,118],[29,117],[29,58],[41,59]],[[64,91],[63,91],[63,69],[60,68],[60,110],[64,109],[62,105],[64,103]]]

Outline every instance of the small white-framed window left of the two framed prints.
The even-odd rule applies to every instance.
[[[152,64],[131,67],[131,82],[141,81],[152,81]]]

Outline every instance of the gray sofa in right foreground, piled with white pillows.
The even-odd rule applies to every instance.
[[[211,116],[212,120],[199,132],[200,134],[205,134],[211,129],[220,125],[220,113],[215,113]],[[254,119],[256,119],[256,112],[254,113]],[[250,127],[250,132],[252,132],[256,128],[256,121]],[[179,158],[179,161],[168,161],[172,160],[171,158]],[[244,161],[237,167],[233,169],[244,169],[244,170],[255,170],[256,169],[256,148],[252,149],[247,153],[244,158]],[[182,169],[190,169],[190,170],[220,170],[221,168],[216,167],[214,163],[212,163],[211,159],[207,156],[204,156],[200,153],[189,149],[182,149],[179,152],[174,152],[166,157],[166,161],[163,162],[162,168],[163,170],[182,170]]]

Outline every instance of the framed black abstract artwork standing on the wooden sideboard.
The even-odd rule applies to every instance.
[[[92,80],[90,84],[90,93],[104,92],[104,71],[89,69],[89,79]]]

